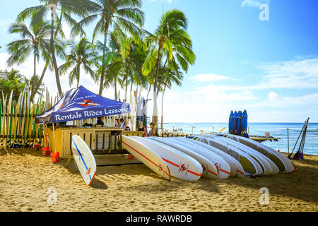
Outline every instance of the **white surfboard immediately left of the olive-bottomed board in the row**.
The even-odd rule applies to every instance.
[[[183,140],[186,140],[187,142],[192,142],[195,145],[199,145],[202,148],[211,151],[212,153],[215,153],[216,155],[223,157],[223,159],[228,162],[228,165],[231,167],[231,177],[244,177],[244,169],[239,161],[237,161],[234,157],[228,155],[227,153],[224,153],[222,150],[219,150],[218,148],[214,148],[211,145],[207,145],[206,143],[196,141],[190,138],[182,138]]]

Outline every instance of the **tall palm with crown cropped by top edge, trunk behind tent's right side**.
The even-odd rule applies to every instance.
[[[139,26],[143,25],[143,11],[141,11],[141,0],[96,0],[98,6],[95,7],[95,13],[83,18],[72,29],[73,35],[86,34],[83,30],[85,25],[88,25],[98,18],[93,32],[93,43],[96,35],[104,35],[104,49],[102,49],[102,71],[100,74],[100,90],[99,95],[102,95],[102,88],[105,79],[105,60],[106,60],[106,45],[108,30],[113,26],[118,29],[119,35],[124,36],[125,32],[129,32],[134,38],[140,38],[141,32]],[[136,25],[135,25],[136,23]]]

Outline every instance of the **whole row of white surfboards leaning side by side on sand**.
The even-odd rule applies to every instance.
[[[167,172],[178,179],[196,181],[200,177],[228,179],[295,171],[288,157],[278,151],[228,134],[198,135],[193,139],[123,136],[122,145],[165,179],[170,179]]]

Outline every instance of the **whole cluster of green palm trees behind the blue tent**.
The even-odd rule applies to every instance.
[[[69,85],[74,87],[85,72],[99,85],[99,95],[113,87],[116,100],[118,85],[124,89],[124,102],[134,86],[139,91],[148,90],[147,99],[153,90],[153,122],[158,125],[159,93],[163,105],[165,91],[182,84],[196,59],[184,13],[177,9],[166,11],[151,32],[143,29],[141,0],[39,2],[18,14],[8,31],[19,34],[20,40],[6,45],[10,54],[8,67],[20,66],[32,56],[33,76],[28,81],[14,69],[1,71],[4,95],[14,90],[18,96],[20,90],[27,88],[34,102],[35,95],[45,89],[42,80],[47,70],[54,71],[61,95],[67,90],[61,90],[60,76],[68,76]],[[62,22],[71,27],[71,40],[66,40]],[[89,25],[93,25],[93,37],[86,34]],[[63,64],[58,65],[57,59]],[[40,60],[45,61],[43,69],[37,67]]]

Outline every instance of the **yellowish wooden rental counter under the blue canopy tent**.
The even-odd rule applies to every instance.
[[[121,136],[142,136],[143,132],[123,131],[114,127],[59,127],[55,128],[55,142],[53,128],[49,127],[49,149],[59,152],[61,158],[71,156],[71,136],[78,135],[92,150],[93,155],[124,154]]]

